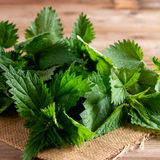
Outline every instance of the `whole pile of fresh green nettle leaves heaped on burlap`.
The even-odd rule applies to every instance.
[[[0,113],[14,103],[26,119],[23,159],[44,146],[80,146],[126,121],[159,130],[158,58],[150,57],[156,71],[149,69],[130,40],[98,52],[89,45],[95,33],[83,13],[69,38],[61,26],[55,10],[46,7],[18,43],[15,25],[0,22]]]

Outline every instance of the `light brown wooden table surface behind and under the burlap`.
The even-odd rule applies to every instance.
[[[159,7],[153,5],[156,1],[152,3],[152,7],[149,7],[151,1],[147,1],[148,7],[145,7],[147,4],[145,0],[141,0],[139,5],[136,0],[133,0],[133,3],[124,1],[125,5],[123,5],[123,0],[106,0],[105,2],[88,0],[87,3],[84,2],[84,0],[60,0],[58,3],[54,0],[0,0],[0,21],[9,20],[9,22],[17,24],[19,41],[24,41],[24,30],[35,19],[37,12],[49,5],[56,9],[58,17],[61,18],[64,37],[66,37],[71,34],[78,15],[84,12],[95,28],[96,39],[92,42],[93,47],[101,51],[118,40],[134,39],[142,47],[144,61],[148,66],[153,67],[148,57],[160,58],[160,11],[156,9]],[[127,7],[131,9],[127,9]],[[143,151],[133,150],[118,159],[158,160],[160,159],[159,150],[160,137],[156,137],[145,143]],[[21,151],[0,141],[0,160],[20,160],[21,155]]]

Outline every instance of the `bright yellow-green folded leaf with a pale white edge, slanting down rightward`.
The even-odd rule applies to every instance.
[[[77,38],[84,45],[90,59],[96,63],[96,69],[101,72],[110,73],[110,69],[113,66],[112,61],[109,58],[104,57],[102,53],[98,52],[96,49],[84,42],[81,37],[77,36]]]

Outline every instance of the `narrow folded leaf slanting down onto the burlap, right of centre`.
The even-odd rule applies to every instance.
[[[121,127],[128,120],[128,104],[123,103],[118,106],[106,121],[95,131],[99,136]]]

